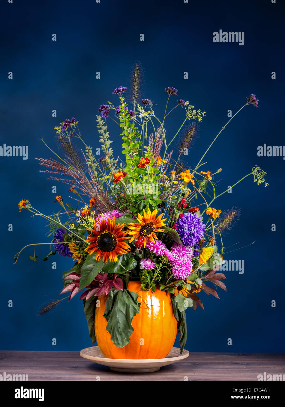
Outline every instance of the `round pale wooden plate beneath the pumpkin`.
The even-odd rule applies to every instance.
[[[101,353],[99,346],[91,346],[80,350],[80,356],[89,359],[99,365],[109,366],[115,372],[126,373],[149,373],[157,372],[161,366],[171,365],[189,356],[188,350],[172,348],[164,359],[108,359]]]

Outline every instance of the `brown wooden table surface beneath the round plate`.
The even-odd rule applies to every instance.
[[[28,374],[28,380],[257,380],[285,374],[284,353],[190,353],[153,373],[112,372],[79,352],[0,351],[0,374]]]

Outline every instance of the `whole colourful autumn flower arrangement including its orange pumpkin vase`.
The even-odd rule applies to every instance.
[[[92,343],[97,341],[104,356],[115,359],[164,358],[177,329],[182,353],[187,339],[186,309],[196,310],[197,304],[204,309],[199,298],[202,291],[216,298],[217,287],[226,291],[221,281],[226,277],[219,272],[224,261],[222,236],[239,210],[216,208],[215,200],[227,192],[217,194],[215,189],[222,169],[211,173],[203,159],[241,109],[258,105],[251,94],[198,164],[189,166],[182,158],[205,112],[194,109],[189,101],[177,100],[177,90],[169,87],[159,119],[154,103],[138,99],[139,76],[136,66],[131,106],[123,86],[113,91],[117,102],[100,106],[100,149],[94,151],[85,144],[75,118],[55,127],[63,156],[43,140],[55,158],[38,159],[46,167],[42,172],[69,185],[75,205],[58,195],[52,204],[58,205],[57,212],[46,215],[28,199],[19,202],[19,211],[24,208],[48,221],[50,242],[39,243],[50,246],[44,260],[55,254],[70,258],[69,262],[73,259],[73,266],[63,272],[61,294],[69,293],[68,301],[77,294],[83,300]],[[182,124],[167,138],[167,119],[174,109],[180,110]],[[107,127],[111,120],[123,140],[122,155],[117,158]],[[176,138],[179,147],[170,150]],[[78,140],[82,148],[77,147]],[[242,179],[253,175],[254,182],[266,186],[265,174],[254,166]],[[35,252],[30,259],[37,262]],[[48,304],[41,313],[65,298]]]

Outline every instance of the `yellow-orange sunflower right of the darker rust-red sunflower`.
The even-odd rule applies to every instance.
[[[132,234],[130,243],[134,239],[139,239],[142,237],[144,239],[144,247],[146,247],[146,239],[149,239],[152,243],[154,243],[154,239],[158,239],[155,232],[164,232],[164,229],[159,229],[161,226],[165,226],[166,219],[161,219],[163,217],[163,213],[161,213],[156,219],[157,209],[155,209],[152,213],[148,208],[148,212],[144,210],[144,216],[141,216],[139,213],[137,215],[137,220],[139,223],[129,223],[128,228],[131,232],[128,234]]]

